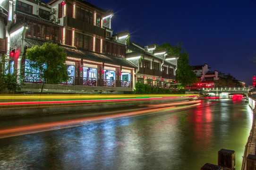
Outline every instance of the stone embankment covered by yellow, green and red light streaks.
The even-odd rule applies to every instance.
[[[2,95],[0,119],[63,112],[132,108],[145,104],[193,104],[198,95]]]

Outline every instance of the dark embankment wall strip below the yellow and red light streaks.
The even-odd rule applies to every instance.
[[[25,116],[37,116],[37,115],[50,115],[59,113],[68,113],[76,111],[88,111],[88,110],[110,110],[114,108],[127,108],[135,107],[145,104],[157,104],[157,103],[169,103],[169,102],[181,102],[187,100],[196,100],[196,97],[180,97],[173,99],[162,100],[142,100],[142,101],[126,101],[126,102],[99,102],[99,103],[78,103],[72,105],[60,105],[60,104],[48,104],[48,105],[26,105],[26,107],[10,107],[0,109],[0,119],[5,118],[17,118]]]

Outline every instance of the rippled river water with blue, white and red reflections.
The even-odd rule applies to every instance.
[[[252,125],[242,101],[205,100],[179,110],[0,139],[0,170],[200,170],[222,148],[236,170]]]

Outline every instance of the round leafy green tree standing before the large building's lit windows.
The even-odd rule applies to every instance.
[[[41,73],[40,77],[50,84],[59,84],[68,81],[68,69],[65,61],[67,54],[58,44],[45,42],[42,46],[34,46],[26,50],[29,59],[29,73]],[[43,85],[41,93],[43,91]]]

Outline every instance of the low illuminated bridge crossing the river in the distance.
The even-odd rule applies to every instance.
[[[247,87],[216,87],[216,88],[202,88],[202,93],[210,94],[212,96],[219,96],[221,98],[228,98],[229,94],[245,94],[249,92]]]

